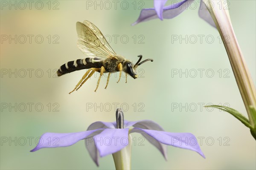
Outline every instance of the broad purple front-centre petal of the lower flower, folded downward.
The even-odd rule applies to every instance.
[[[102,133],[93,137],[99,155],[106,156],[124,148],[128,142],[128,128],[105,129]]]

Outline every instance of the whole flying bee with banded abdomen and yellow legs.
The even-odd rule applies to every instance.
[[[119,79],[117,82],[119,82],[121,79],[122,71],[125,72],[126,82],[127,74],[136,79],[138,78],[136,68],[144,62],[153,61],[153,59],[145,59],[144,61],[140,62],[142,55],[139,55],[139,60],[136,62],[136,64],[133,64],[128,59],[125,59],[125,57],[117,55],[108,44],[99,28],[97,28],[90,21],[85,20],[83,23],[77,22],[76,31],[78,34],[77,45],[79,49],[87,56],[87,58],[67,62],[64,65],[61,65],[57,71],[57,75],[62,76],[73,71],[88,69],[77,83],[73,91],[81,88],[87,79],[92,77],[95,72],[100,73],[95,92],[99,87],[99,82],[103,73],[108,73],[107,85],[105,89],[108,86],[111,73],[117,71],[119,71]],[[69,94],[71,94],[73,91],[71,91]]]

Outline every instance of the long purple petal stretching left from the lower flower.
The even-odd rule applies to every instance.
[[[85,139],[91,133],[101,130],[89,130],[84,132],[77,132],[77,133],[44,133],[37,146],[32,149],[30,152],[35,152],[41,148],[45,147],[67,147],[75,144],[79,140]]]

